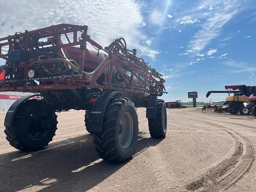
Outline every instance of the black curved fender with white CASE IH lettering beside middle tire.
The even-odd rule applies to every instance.
[[[95,102],[94,106],[90,109],[88,114],[88,126],[89,132],[101,132],[102,123],[105,114],[106,107],[110,99],[116,95],[122,93],[121,91],[105,92]]]

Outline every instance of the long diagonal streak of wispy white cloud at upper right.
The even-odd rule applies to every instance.
[[[240,10],[240,3],[236,0],[229,1],[228,4],[218,6],[216,11],[207,16],[202,28],[196,32],[192,40],[188,44],[188,48],[196,54],[203,50],[214,38],[220,35],[221,27],[224,26],[233,16]]]

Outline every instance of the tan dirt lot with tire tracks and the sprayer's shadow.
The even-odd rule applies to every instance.
[[[161,140],[150,138],[145,110],[138,108],[136,154],[125,164],[98,157],[84,111],[58,114],[53,141],[30,153],[8,144],[0,114],[0,191],[256,191],[255,117],[167,109]]]

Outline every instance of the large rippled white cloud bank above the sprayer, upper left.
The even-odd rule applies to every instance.
[[[66,0],[65,3],[62,0],[34,0],[33,3],[17,1],[15,9],[13,2],[1,0],[0,7],[3,5],[9,11],[0,12],[0,24],[4,23],[0,26],[1,37],[15,32],[70,23],[87,25],[88,34],[103,47],[122,36],[126,39],[128,48],[136,48],[138,52],[150,58],[155,58],[158,54],[157,50],[152,50],[140,43],[148,37],[140,32],[139,26],[144,26],[146,23],[143,24],[140,5],[134,0],[122,2],[122,9],[118,0],[92,1],[90,6],[84,0]],[[127,19],[127,13],[129,13],[129,19]]]

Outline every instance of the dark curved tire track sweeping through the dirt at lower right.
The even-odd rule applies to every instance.
[[[248,138],[242,134],[232,132],[219,124],[202,120],[200,122],[222,128],[230,134],[234,138],[235,150],[230,158],[223,160],[201,178],[186,184],[185,187],[189,191],[199,190],[201,192],[225,190],[250,170],[255,160],[254,149]]]

